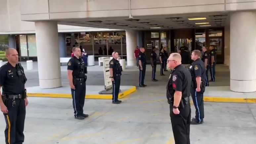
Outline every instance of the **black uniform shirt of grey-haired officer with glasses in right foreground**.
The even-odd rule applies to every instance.
[[[190,96],[191,74],[182,65],[177,66],[169,77],[167,85],[167,99],[174,97],[175,91],[182,92],[182,98]],[[169,93],[168,93],[169,91]]]

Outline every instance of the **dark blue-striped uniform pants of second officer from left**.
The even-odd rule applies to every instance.
[[[74,116],[78,117],[83,114],[84,101],[85,101],[86,83],[85,81],[76,81],[75,90],[71,89]]]

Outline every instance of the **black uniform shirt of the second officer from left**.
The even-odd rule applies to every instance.
[[[67,62],[67,70],[72,70],[72,75],[75,78],[84,77],[85,65],[83,59],[77,59],[75,56],[71,57]]]

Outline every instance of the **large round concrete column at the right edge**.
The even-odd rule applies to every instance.
[[[256,91],[256,12],[234,12],[230,20],[230,89]]]

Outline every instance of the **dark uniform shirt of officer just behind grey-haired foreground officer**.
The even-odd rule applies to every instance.
[[[195,81],[195,78],[200,76],[201,80],[204,81],[206,79],[205,77],[205,66],[203,61],[199,58],[197,60],[195,60],[194,62],[192,62],[191,66],[190,66],[190,72],[191,72],[191,76],[192,76],[192,80]]]

